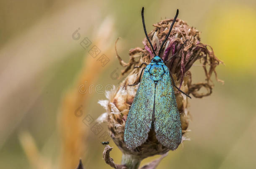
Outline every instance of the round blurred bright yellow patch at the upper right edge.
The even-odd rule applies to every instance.
[[[255,7],[230,5],[215,8],[207,20],[211,34],[209,43],[221,55],[227,68],[235,73],[256,72],[256,11]]]

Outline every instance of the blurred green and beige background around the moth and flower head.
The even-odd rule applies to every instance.
[[[131,48],[143,47],[142,6],[148,32],[161,18],[173,18],[178,8],[178,18],[196,27],[201,42],[211,45],[225,63],[217,67],[225,85],[212,77],[212,95],[190,100],[191,141],[170,152],[158,169],[255,169],[255,0],[0,0],[0,168],[34,168],[21,146],[22,131],[31,134],[50,168],[58,168],[58,110],[68,89],[78,87],[84,59],[91,57],[73,40],[73,32],[80,28],[81,37],[94,43],[95,30],[110,18],[112,40],[106,45],[113,56],[95,85],[116,85],[120,80],[110,74],[122,68],[114,57],[114,42],[121,37],[118,52],[125,61]],[[200,66],[193,66],[191,72],[194,83],[204,81]],[[84,111],[96,119],[104,112],[97,101],[105,96],[93,92],[88,97]],[[102,140],[90,129],[87,132],[85,168],[110,169],[102,159]],[[121,152],[112,141],[110,146],[119,164]]]

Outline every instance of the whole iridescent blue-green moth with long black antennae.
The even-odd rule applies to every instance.
[[[180,114],[172,87],[172,76],[168,67],[165,66],[162,58],[158,55],[161,53],[161,49],[178,17],[178,10],[158,55],[156,55],[146,33],[144,8],[141,10],[141,16],[144,32],[152,47],[154,58],[144,68],[144,74],[129,110],[124,132],[125,144],[128,149],[135,149],[148,139],[149,131],[152,129],[155,131],[159,143],[171,150],[175,150],[178,148],[182,136]],[[180,91],[179,88],[178,90]],[[183,91],[181,92],[184,93]]]

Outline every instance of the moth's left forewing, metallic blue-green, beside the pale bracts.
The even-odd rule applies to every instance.
[[[124,140],[130,150],[143,144],[151,129],[155,86],[149,68],[144,71],[125,124]]]

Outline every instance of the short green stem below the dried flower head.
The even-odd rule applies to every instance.
[[[138,169],[141,159],[138,156],[123,154],[121,164],[127,166],[127,169]]]

